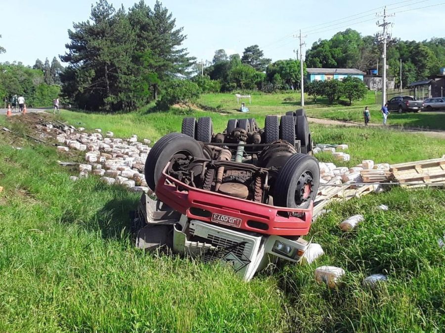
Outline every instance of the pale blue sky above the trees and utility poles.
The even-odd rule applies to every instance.
[[[108,1],[115,8],[123,5],[127,9],[135,2]],[[145,0],[151,7],[154,2]],[[0,23],[0,45],[6,53],[0,54],[0,62],[34,65],[37,58],[45,61],[47,57],[51,61],[54,56],[64,54],[69,42],[68,29],[72,29],[73,22],[89,19],[92,3],[95,0],[0,0],[0,12],[6,13],[1,15]],[[395,13],[389,18],[394,23],[393,37],[403,40],[444,37],[443,29],[438,29],[443,25],[444,0],[164,0],[162,3],[173,13],[177,27],[183,27],[187,35],[184,46],[198,61],[212,60],[215,50],[222,48],[227,54],[242,54],[245,47],[254,44],[272,61],[295,58],[299,40],[293,35],[298,35],[299,29],[307,35],[303,53],[314,41],[328,39],[347,28],[363,36],[374,35],[380,30],[375,13],[381,12],[384,5],[388,5],[388,13]],[[426,6],[430,7],[420,8]]]

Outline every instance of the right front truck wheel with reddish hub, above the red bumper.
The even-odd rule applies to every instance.
[[[320,182],[318,162],[312,156],[294,154],[281,168],[273,189],[273,204],[289,208],[308,208]]]

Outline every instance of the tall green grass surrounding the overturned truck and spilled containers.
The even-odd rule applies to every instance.
[[[211,115],[217,130],[228,117]],[[179,111],[86,114],[62,111],[74,126],[156,140],[180,129]],[[263,123],[261,112],[255,117]],[[445,191],[393,189],[331,205],[313,236],[326,255],[308,265],[270,267],[243,283],[226,267],[134,248],[129,212],[138,202],[97,178],[73,183],[64,159],[0,125],[0,332],[440,332],[445,327]],[[347,143],[352,161],[403,162],[445,153],[445,141],[381,128],[311,126],[319,143]],[[21,150],[12,148],[22,147]],[[317,155],[328,160],[328,155]],[[73,157],[71,157],[73,158]],[[80,157],[79,157],[80,158]],[[389,211],[377,209],[380,204]],[[344,234],[353,214],[365,222]],[[327,290],[322,264],[347,271]],[[388,275],[376,290],[361,286]]]

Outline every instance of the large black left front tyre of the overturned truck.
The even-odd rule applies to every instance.
[[[156,184],[161,177],[167,163],[175,155],[192,155],[204,158],[201,145],[188,135],[181,133],[170,133],[159,139],[150,149],[145,160],[144,174],[148,187],[156,189]]]

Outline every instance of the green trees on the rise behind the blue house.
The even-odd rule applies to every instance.
[[[336,33],[330,39],[319,39],[306,52],[306,65],[314,68],[356,68],[361,71],[377,69],[381,60],[381,46],[377,36],[361,36],[353,29]],[[408,41],[394,38],[388,43],[388,75],[400,85],[400,60],[402,85],[424,80],[439,74],[445,66],[445,38]],[[379,64],[381,73],[382,63]]]

